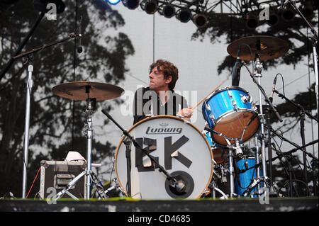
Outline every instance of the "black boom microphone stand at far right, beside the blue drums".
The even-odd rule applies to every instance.
[[[283,94],[279,93],[279,91],[276,91],[276,89],[274,90],[274,92],[276,94],[278,94],[278,96],[280,98],[284,98],[288,103],[291,103],[293,106],[295,106],[296,108],[298,108],[299,110],[299,116],[300,116],[300,126],[301,126],[301,141],[302,141],[302,145],[304,146],[306,144],[305,141],[305,115],[308,115],[309,118],[312,118],[313,120],[316,120],[318,122],[318,120],[313,117],[313,115],[310,115],[310,113],[308,113],[305,108],[303,108],[303,106],[301,106],[298,103],[294,103],[293,101],[289,100],[289,98],[286,98],[286,96],[284,96]],[[301,149],[303,151],[303,174],[305,176],[305,183],[308,184],[308,175],[307,175],[307,158],[306,158],[306,148],[303,147],[303,149]],[[315,181],[314,181],[314,185],[315,185]],[[308,194],[307,194],[308,195]]]

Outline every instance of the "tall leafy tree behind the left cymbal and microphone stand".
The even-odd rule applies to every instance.
[[[31,0],[9,3],[0,9],[1,70],[39,15]],[[66,10],[57,14],[56,20],[42,19],[23,49],[31,50],[68,37],[78,29],[82,16],[84,52],[81,55],[75,49],[77,41],[70,40],[32,56],[28,188],[40,167],[39,160],[62,160],[71,149],[86,157],[86,139],[81,132],[85,103],[55,96],[52,87],[84,80],[118,84],[129,70],[125,65],[126,58],[134,54],[128,36],[117,31],[125,24],[122,16],[105,1],[81,1],[78,5],[77,1],[65,1],[65,4]],[[26,103],[26,64],[23,63],[16,60],[0,84],[0,196],[7,191],[20,196],[22,190]],[[103,108],[108,110],[118,103],[117,100],[101,101]],[[103,123],[105,125],[106,120]],[[99,153],[99,158],[113,154],[114,149],[109,142],[94,140],[94,151]]]

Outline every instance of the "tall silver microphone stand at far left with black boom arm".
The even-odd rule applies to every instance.
[[[39,21],[40,22],[40,21]],[[40,50],[44,50],[47,47],[51,47],[52,45],[57,45],[58,43],[63,43],[66,40],[71,38],[76,38],[79,35],[70,34],[68,38],[64,38],[62,40],[58,40],[55,43],[50,43],[48,45],[43,45],[41,47],[37,47],[28,52],[23,52],[20,55],[16,55],[12,57],[13,60],[19,59],[21,57],[28,57],[26,64],[28,64],[28,77],[26,79],[26,118],[25,118],[25,129],[24,129],[24,147],[23,147],[23,182],[22,182],[22,198],[26,198],[26,181],[27,181],[27,166],[28,166],[28,146],[29,146],[29,128],[30,128],[30,96],[33,87],[33,53],[38,52]],[[12,62],[13,62],[12,60]],[[9,67],[8,67],[9,69]]]

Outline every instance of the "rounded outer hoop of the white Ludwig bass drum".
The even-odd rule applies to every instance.
[[[190,123],[189,121],[185,120],[184,118],[181,118],[179,116],[174,116],[174,115],[153,115],[153,116],[149,116],[147,118],[144,118],[142,120],[140,120],[138,123],[135,123],[134,125],[132,125],[129,129],[128,129],[128,132],[132,131],[135,127],[137,127],[138,125],[148,121],[148,120],[152,120],[152,119],[155,119],[155,118],[172,118],[172,119],[177,119],[177,120],[180,120],[181,122],[183,123],[186,123],[186,124],[189,124],[191,125],[195,130],[197,130],[197,132],[199,134],[201,134],[201,137],[203,137],[203,140],[205,140],[206,142],[206,145],[209,149],[209,152],[211,153],[211,174],[210,174],[210,179],[208,180],[208,182],[206,183],[206,186],[205,188],[203,188],[203,191],[201,191],[201,193],[198,195],[198,197],[196,198],[201,198],[202,194],[204,193],[204,191],[207,191],[207,188],[209,186],[209,184],[211,183],[211,180],[213,179],[213,171],[214,171],[214,162],[213,162],[213,151],[211,149],[211,145],[209,145],[209,142],[208,140],[206,139],[206,137],[203,136],[203,133],[201,132],[201,130],[199,130],[196,125],[194,125],[193,123]],[[121,144],[123,143],[123,140],[125,139],[125,135],[123,135],[123,137],[121,138],[120,142],[118,143],[118,147],[116,147],[116,152],[114,154],[114,159],[115,159],[115,163],[113,163],[114,165],[114,171],[115,171],[115,174],[116,174],[116,179],[118,180],[118,186],[121,187],[121,189],[125,192],[125,195],[128,196],[128,192],[126,191],[126,188],[122,185],[121,181],[120,181],[120,178],[118,177],[118,171],[117,171],[117,157],[118,157],[118,150],[121,146]]]

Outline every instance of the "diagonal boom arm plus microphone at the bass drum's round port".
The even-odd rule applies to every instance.
[[[136,149],[140,149],[144,154],[147,155],[147,157],[150,158],[150,160],[159,168],[159,171],[162,172],[163,174],[165,174],[165,176],[167,176],[167,180],[170,182],[169,186],[172,186],[174,188],[177,188],[177,192],[179,192],[179,190],[184,190],[185,188],[185,184],[184,181],[177,181],[177,179],[175,179],[174,177],[172,177],[169,172],[167,172],[164,167],[162,165],[160,165],[155,159],[154,157],[152,157],[147,150],[143,149],[142,147],[140,147],[140,145],[138,144],[138,142],[136,142],[136,140],[130,135],[130,133],[128,133],[128,131],[124,130],[121,125],[119,125],[116,120],[114,120],[110,114],[108,114],[105,110],[102,110],[102,113],[104,115],[106,115],[114,124],[116,124],[118,126],[118,128],[120,128],[120,130],[122,130],[123,135],[125,135],[126,137],[128,137],[128,139],[131,140],[131,142],[133,142],[133,145],[136,147]]]

